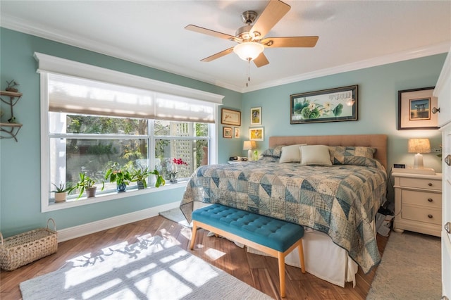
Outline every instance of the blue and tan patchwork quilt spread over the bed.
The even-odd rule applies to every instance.
[[[379,163],[300,165],[249,161],[204,165],[193,173],[180,208],[188,221],[194,201],[218,203],[325,232],[368,273],[381,261],[371,223],[385,201],[387,174]]]

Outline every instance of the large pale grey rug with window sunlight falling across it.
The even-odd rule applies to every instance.
[[[80,256],[20,283],[32,299],[271,299],[162,237]]]

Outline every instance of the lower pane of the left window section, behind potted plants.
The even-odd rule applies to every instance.
[[[106,170],[112,163],[147,166],[147,139],[50,139],[50,180],[78,182],[79,173],[96,180],[98,191]],[[136,185],[132,182],[131,186]],[[116,189],[116,183],[105,182],[105,190]]]

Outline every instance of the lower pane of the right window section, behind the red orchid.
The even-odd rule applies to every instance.
[[[208,147],[208,139],[155,139],[155,168],[166,180],[171,172],[177,172],[178,179],[190,177],[200,165],[208,164]],[[183,163],[173,163],[174,158]]]

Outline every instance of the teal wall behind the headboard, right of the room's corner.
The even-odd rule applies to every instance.
[[[268,147],[267,137],[271,135],[385,134],[388,135],[389,170],[393,163],[412,165],[414,155],[407,153],[408,139],[428,137],[431,147],[438,148],[441,135],[438,130],[397,130],[397,92],[435,86],[445,58],[446,54],[439,54],[245,93],[242,127],[249,128],[250,108],[261,106],[265,140],[257,142],[260,150]],[[359,120],[290,124],[290,94],[348,85],[359,85]],[[248,130],[243,132],[249,136]],[[441,172],[441,161],[436,154],[424,154],[424,165]]]

